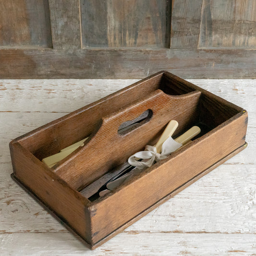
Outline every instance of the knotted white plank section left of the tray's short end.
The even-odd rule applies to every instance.
[[[67,230],[11,179],[11,163],[0,165],[0,233]]]

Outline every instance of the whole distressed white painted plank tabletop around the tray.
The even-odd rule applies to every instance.
[[[90,251],[10,177],[8,143],[137,80],[0,80],[0,255],[256,254],[256,80],[189,80],[248,111],[248,147]]]

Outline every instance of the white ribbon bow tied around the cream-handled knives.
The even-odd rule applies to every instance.
[[[155,146],[146,145],[145,151],[140,151],[129,157],[128,163],[136,166],[138,169],[150,167],[155,161],[160,161],[167,158],[171,152],[183,146],[181,143],[176,142],[171,136],[162,144],[161,154],[157,153]],[[141,158],[142,161],[137,161],[135,158]]]

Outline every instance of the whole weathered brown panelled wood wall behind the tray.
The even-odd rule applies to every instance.
[[[255,0],[0,0],[0,78],[256,77]]]

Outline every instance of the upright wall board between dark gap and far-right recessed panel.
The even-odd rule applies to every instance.
[[[171,49],[197,49],[203,0],[174,0],[171,8]]]

